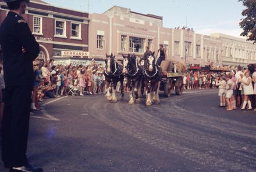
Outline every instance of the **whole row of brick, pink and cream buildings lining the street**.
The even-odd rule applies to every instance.
[[[7,13],[6,3],[0,0],[0,24]],[[38,58],[54,58],[59,63],[82,63],[89,57],[103,61],[106,53],[120,59],[128,53],[141,57],[146,46],[157,53],[159,44],[163,44],[170,60],[194,67],[256,63],[253,42],[223,34],[208,36],[188,29],[165,28],[161,16],[120,6],[89,15],[33,0],[23,17],[40,43]]]

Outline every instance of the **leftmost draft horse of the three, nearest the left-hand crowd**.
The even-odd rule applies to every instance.
[[[123,93],[123,74],[122,74],[122,66],[118,64],[118,62],[115,59],[115,56],[111,53],[111,55],[106,54],[106,67],[104,70],[104,76],[106,78],[106,95],[105,97],[108,99],[108,101],[111,101],[112,103],[116,103],[118,99],[116,98],[116,86],[118,85],[118,82],[120,82],[120,91],[121,91],[121,97],[125,96]],[[111,94],[112,92],[112,94]]]

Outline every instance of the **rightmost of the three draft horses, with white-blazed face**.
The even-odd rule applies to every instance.
[[[159,104],[159,86],[161,82],[161,69],[155,59],[155,52],[148,54],[144,63],[144,83],[146,87],[146,105]]]

